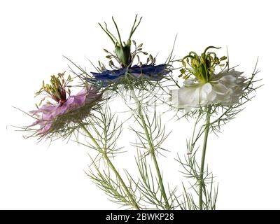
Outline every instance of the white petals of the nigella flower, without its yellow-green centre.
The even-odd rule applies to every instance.
[[[230,106],[239,102],[246,78],[234,69],[211,76],[208,83],[197,78],[187,78],[184,86],[172,91],[172,102],[186,113],[209,104]]]

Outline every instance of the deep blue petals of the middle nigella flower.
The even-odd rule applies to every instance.
[[[159,65],[147,65],[142,66],[134,65],[130,68],[122,68],[118,70],[105,70],[101,73],[91,72],[93,78],[90,79],[92,82],[102,82],[104,84],[118,83],[120,78],[125,76],[127,73],[134,78],[146,78],[147,80],[159,81],[163,76],[167,75],[170,70],[167,69],[167,64]]]

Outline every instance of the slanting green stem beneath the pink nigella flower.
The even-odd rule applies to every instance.
[[[106,162],[108,163],[109,167],[113,170],[113,172],[116,174],[117,179],[120,181],[121,185],[123,186],[123,189],[125,190],[125,193],[127,193],[127,196],[130,198],[130,201],[134,207],[134,209],[140,210],[139,205],[137,204],[137,202],[134,200],[134,197],[132,196],[132,194],[130,193],[130,190],[128,190],[127,186],[125,185],[125,182],[123,181],[122,177],[120,176],[120,174],[118,173],[116,167],[113,165],[113,163],[111,162],[110,158],[108,157],[107,153],[105,150],[102,150],[102,148],[99,146],[99,144],[97,143],[96,139],[94,139],[94,137],[92,137],[92,134],[90,134],[90,132],[87,130],[87,128],[85,127],[85,125],[80,123],[80,127],[83,128],[83,130],[85,131],[85,133],[88,135],[88,137],[90,137],[90,139],[92,140],[92,142],[95,144],[95,146],[97,146],[97,148],[99,148],[100,152],[103,152],[103,158],[104,160],[106,160]]]

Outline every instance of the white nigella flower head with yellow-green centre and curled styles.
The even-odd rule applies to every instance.
[[[172,102],[176,108],[185,109],[186,113],[210,104],[238,104],[244,94],[247,79],[241,76],[242,72],[232,69],[214,73],[217,65],[224,66],[221,61],[226,57],[218,58],[214,52],[207,53],[209,48],[201,56],[190,52],[182,60],[184,69],[181,69],[181,77],[185,80],[183,87],[172,91]],[[184,62],[185,59],[190,68]]]

